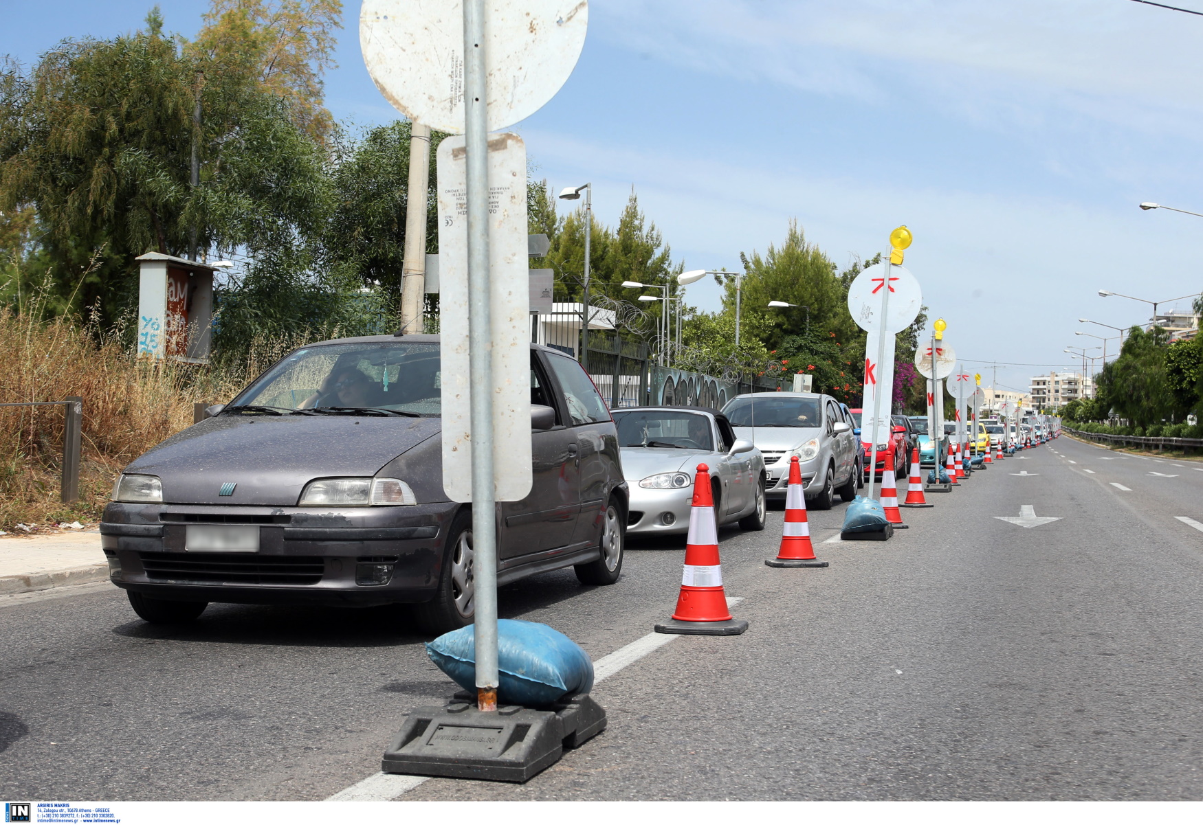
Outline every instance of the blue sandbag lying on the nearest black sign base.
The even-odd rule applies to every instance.
[[[464,690],[476,690],[473,625],[426,645],[426,655]],[[593,661],[581,646],[538,622],[497,619],[497,701],[540,707],[593,689]]]

